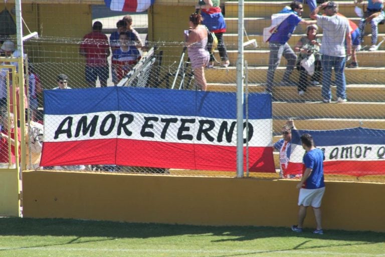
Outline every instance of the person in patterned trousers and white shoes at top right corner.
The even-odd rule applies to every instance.
[[[362,3],[362,0],[358,0],[357,3]],[[377,49],[378,38],[378,24],[385,19],[385,13],[383,12],[383,0],[367,0],[366,12],[364,17],[358,24],[360,32],[360,42],[363,42],[363,36],[365,35],[365,25],[370,23],[371,27],[371,47],[369,51],[375,51]]]

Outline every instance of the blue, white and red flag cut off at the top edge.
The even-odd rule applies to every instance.
[[[106,7],[119,12],[144,12],[155,0],[104,0]]]

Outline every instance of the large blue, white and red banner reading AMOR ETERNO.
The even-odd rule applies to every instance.
[[[248,102],[250,171],[275,172],[271,96],[249,94]],[[223,92],[135,87],[45,90],[41,166],[235,171],[236,113],[236,95]]]

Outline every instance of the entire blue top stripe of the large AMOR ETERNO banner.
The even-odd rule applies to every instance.
[[[271,118],[269,94],[249,94],[248,102],[250,119]],[[236,95],[225,92],[137,87],[44,91],[44,114],[69,115],[114,110],[230,119],[235,119],[237,115]]]

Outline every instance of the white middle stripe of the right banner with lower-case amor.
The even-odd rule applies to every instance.
[[[290,162],[302,163],[305,150],[292,144]],[[318,147],[325,153],[325,162],[334,161],[382,161],[385,159],[385,146],[373,144],[352,144],[342,146]]]

